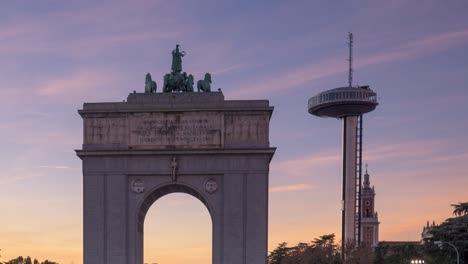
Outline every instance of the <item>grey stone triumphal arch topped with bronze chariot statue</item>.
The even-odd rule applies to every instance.
[[[142,264],[146,212],[174,192],[207,207],[214,264],[267,263],[273,107],[266,100],[225,100],[211,91],[211,76],[193,91],[193,76],[176,56],[163,92],[147,76],[144,93],[85,103],[78,111],[85,264]]]

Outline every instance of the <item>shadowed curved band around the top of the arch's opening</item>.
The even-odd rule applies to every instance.
[[[206,208],[208,209],[208,212],[210,213],[211,220],[213,221],[213,215],[212,215],[210,206],[208,205],[206,199],[198,191],[184,184],[177,184],[177,183],[169,184],[169,185],[164,185],[162,187],[159,187],[155,189],[154,191],[152,191],[141,204],[140,210],[138,213],[138,231],[139,232],[143,232],[143,226],[145,222],[146,213],[148,212],[151,205],[159,198],[167,194],[171,194],[171,193],[186,193],[186,194],[194,196],[206,206]]]

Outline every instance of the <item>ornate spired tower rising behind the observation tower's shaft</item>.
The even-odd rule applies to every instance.
[[[375,211],[375,189],[370,187],[369,173],[364,175],[361,191],[361,242],[375,247],[379,243],[379,217]]]

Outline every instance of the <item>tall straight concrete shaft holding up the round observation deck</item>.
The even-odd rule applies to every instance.
[[[343,241],[355,240],[357,116],[343,118]]]

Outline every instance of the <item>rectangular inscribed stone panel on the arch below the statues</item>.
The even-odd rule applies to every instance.
[[[219,112],[141,113],[129,117],[129,146],[196,149],[223,146],[223,114]]]

